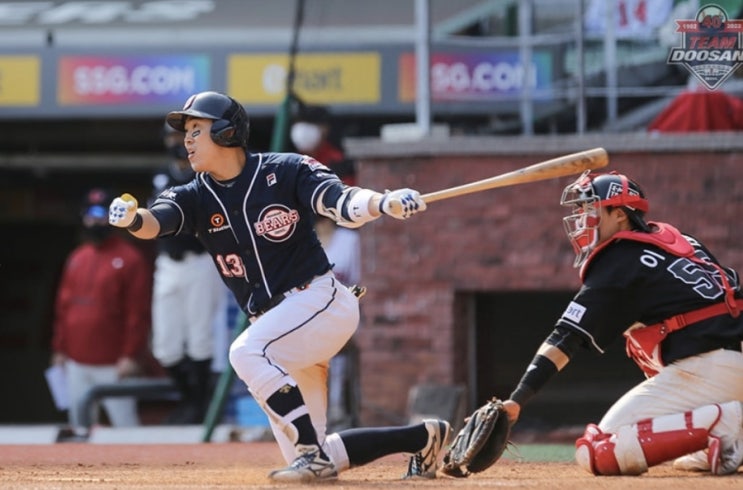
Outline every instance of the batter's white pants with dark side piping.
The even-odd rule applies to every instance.
[[[287,463],[296,458],[287,422],[265,404],[279,388],[297,385],[321,444],[326,441],[328,363],[359,322],[359,303],[332,272],[316,277],[251,324],[230,347],[230,363],[268,415]],[[336,451],[331,450],[336,453]],[[342,455],[331,454],[334,460]]]

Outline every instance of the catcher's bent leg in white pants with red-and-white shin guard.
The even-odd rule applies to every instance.
[[[598,427],[589,424],[576,441],[576,461],[593,474],[638,475],[707,447],[710,470],[729,474],[743,457],[742,401],[740,352],[676,361],[622,396]]]

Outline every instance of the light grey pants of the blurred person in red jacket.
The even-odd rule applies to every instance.
[[[70,400],[69,420],[74,429],[82,427],[83,399],[93,386],[110,384],[119,381],[116,366],[94,366],[80,364],[71,359],[65,362],[65,379],[67,381],[67,395]],[[110,397],[101,400],[106,415],[114,427],[134,427],[139,425],[137,413],[137,399],[134,397]],[[97,422],[96,413],[89,418],[94,424]]]

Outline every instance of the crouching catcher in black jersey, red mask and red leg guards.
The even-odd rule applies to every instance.
[[[505,402],[509,419],[582,350],[618,337],[647,379],[576,442],[596,475],[635,475],[675,459],[716,475],[743,461],[743,299],[738,274],[673,226],[645,221],[648,201],[618,173],[584,173],[561,204],[581,289]],[[688,456],[685,456],[689,454]],[[678,458],[678,459],[676,459]]]

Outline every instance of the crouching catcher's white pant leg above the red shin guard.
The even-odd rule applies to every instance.
[[[718,349],[688,357],[625,393],[598,424],[604,432],[711,403],[743,401],[743,354]]]

